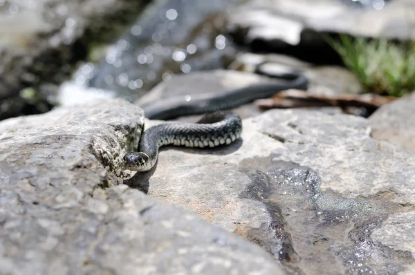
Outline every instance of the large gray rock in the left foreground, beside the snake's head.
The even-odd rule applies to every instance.
[[[190,211],[105,188],[142,122],[120,99],[0,122],[0,274],[287,274]]]

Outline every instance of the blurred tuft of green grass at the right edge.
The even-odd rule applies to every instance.
[[[344,64],[359,77],[364,93],[400,97],[415,90],[415,44],[394,43],[388,39],[324,37],[342,57]]]

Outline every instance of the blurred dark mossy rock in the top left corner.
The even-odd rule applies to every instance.
[[[48,95],[39,92],[27,102],[19,91],[67,79],[91,44],[112,40],[147,1],[2,2],[0,120],[19,115],[27,105],[44,111],[38,105],[51,103]]]

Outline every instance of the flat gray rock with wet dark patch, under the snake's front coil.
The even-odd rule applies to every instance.
[[[412,218],[402,215],[402,238],[382,222],[413,208],[415,157],[370,133],[352,115],[267,111],[243,120],[239,142],[164,149],[156,169],[125,182],[258,243],[299,274],[409,272]]]

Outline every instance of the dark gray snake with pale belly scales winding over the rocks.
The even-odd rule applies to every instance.
[[[255,73],[268,77],[284,78],[286,83],[255,84],[236,88],[221,94],[202,95],[186,101],[181,97],[160,100],[143,106],[149,120],[171,120],[183,115],[205,115],[196,123],[167,122],[151,126],[138,142],[138,151],[124,155],[124,169],[149,171],[158,160],[161,146],[174,145],[198,148],[213,148],[228,145],[241,137],[241,117],[229,109],[266,98],[289,88],[306,90],[308,79],[301,73],[291,72],[270,75],[261,68],[267,62],[257,65]]]

